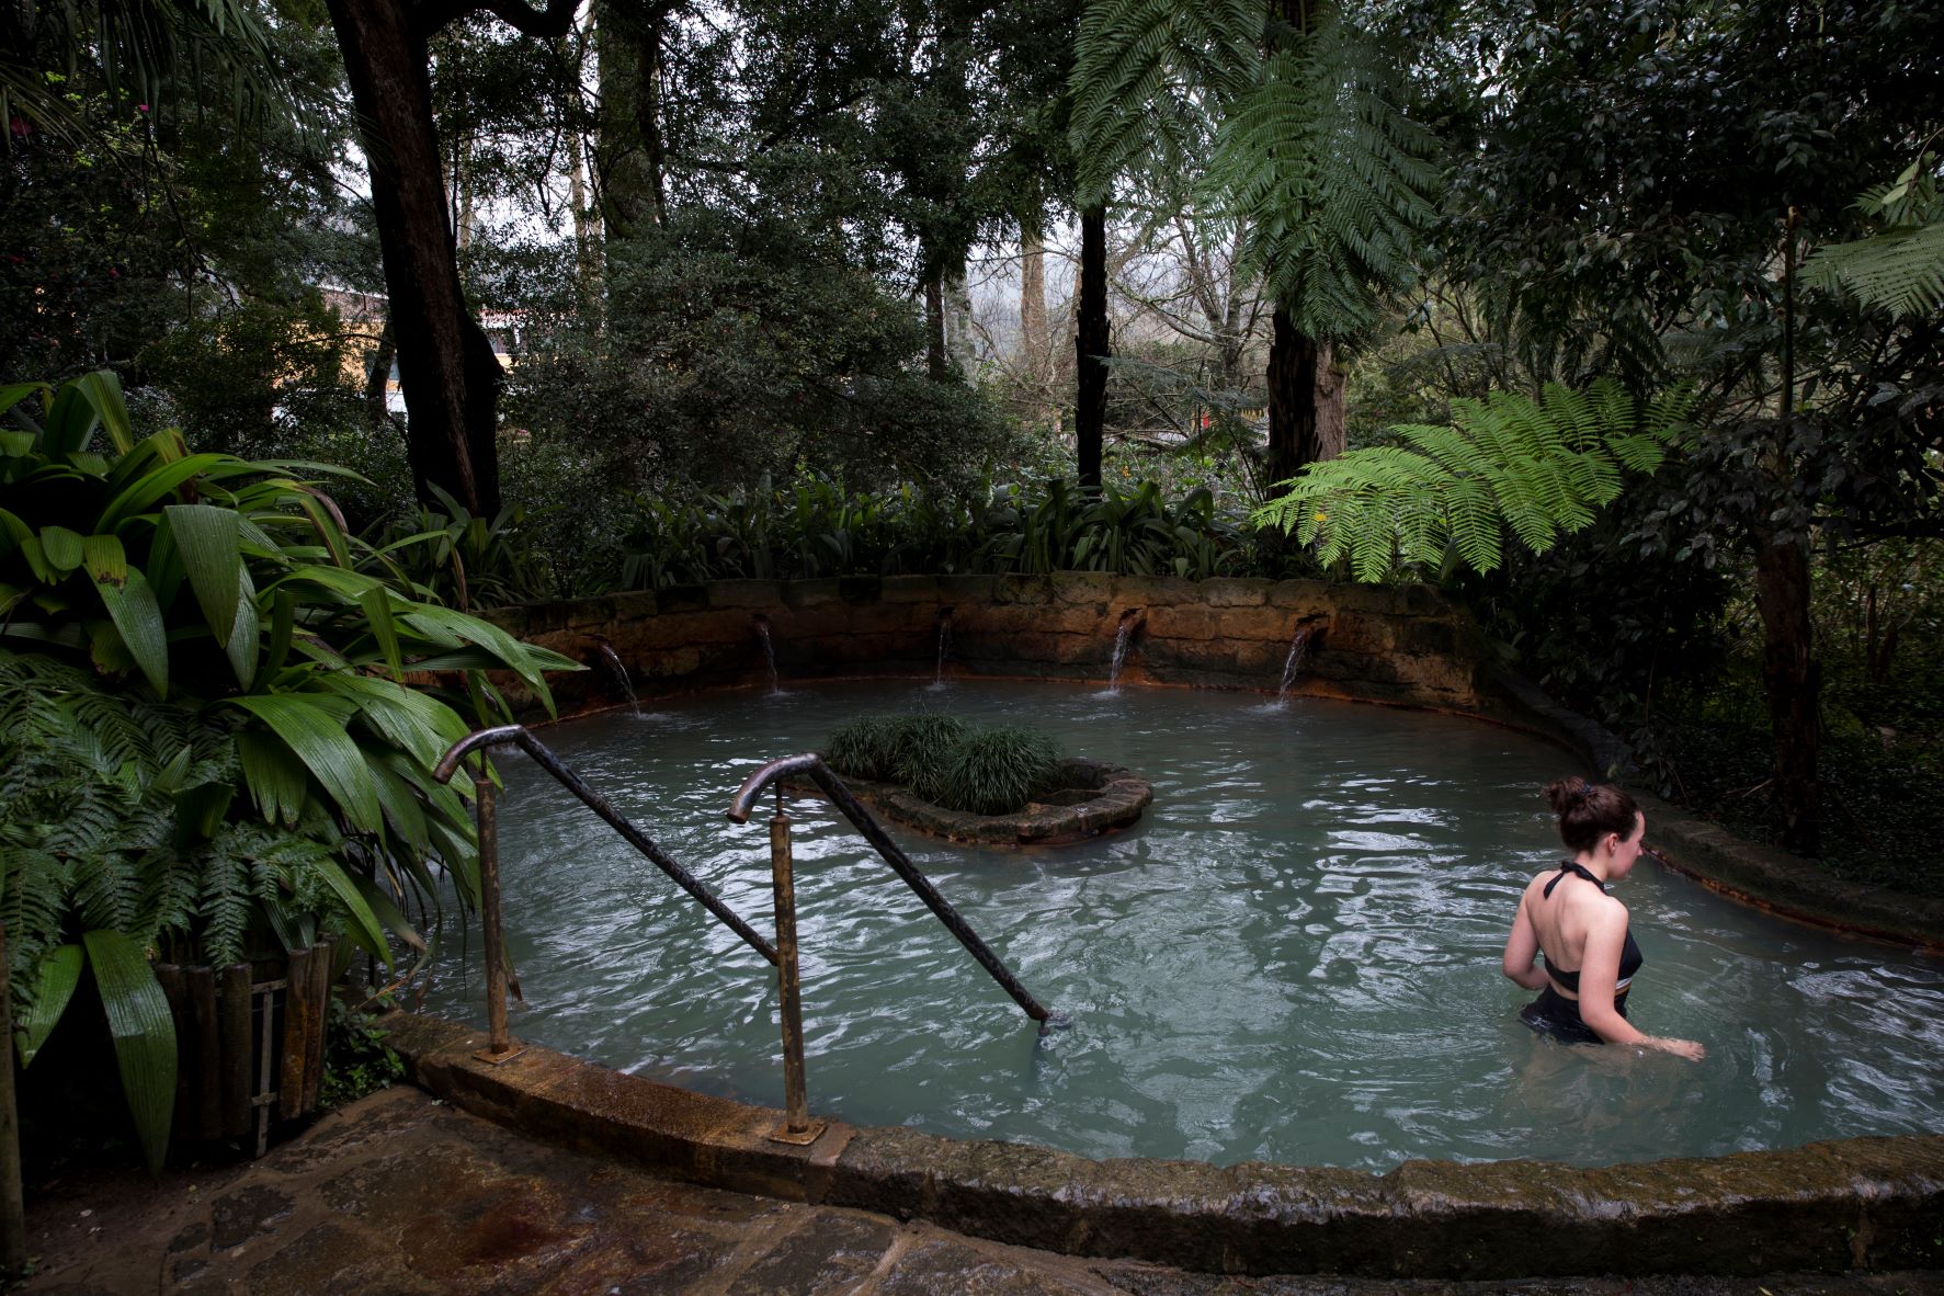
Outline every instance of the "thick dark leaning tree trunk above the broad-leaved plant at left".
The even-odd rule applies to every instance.
[[[327,2],[371,173],[412,482],[422,499],[439,486],[492,515],[500,511],[500,361],[459,286],[426,35],[404,0]]]

